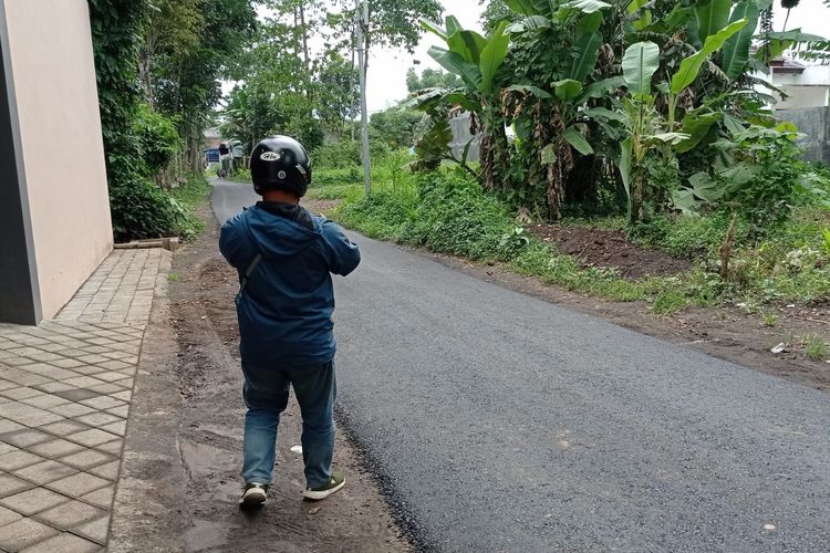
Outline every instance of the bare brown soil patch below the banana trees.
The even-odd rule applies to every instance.
[[[530,231],[577,257],[582,267],[618,269],[624,279],[673,275],[692,268],[689,261],[635,246],[621,230],[533,225]]]

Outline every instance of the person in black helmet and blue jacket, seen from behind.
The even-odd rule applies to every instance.
[[[300,207],[311,184],[311,161],[300,143],[287,136],[262,140],[250,168],[262,201],[225,223],[219,239],[240,280],[237,314],[248,407],[241,503],[266,502],[290,386],[302,414],[303,495],[321,500],[345,483],[331,467],[336,393],[331,273],[351,273],[360,251],[334,222]]]

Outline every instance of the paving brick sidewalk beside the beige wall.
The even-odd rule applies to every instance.
[[[170,254],[116,250],[52,321],[0,325],[0,550],[106,545],[127,414]]]

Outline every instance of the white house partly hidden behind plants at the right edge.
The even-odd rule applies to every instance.
[[[774,106],[777,112],[830,106],[830,66],[779,59],[770,62],[768,79],[788,95]]]

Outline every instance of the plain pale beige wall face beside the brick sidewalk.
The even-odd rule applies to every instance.
[[[58,313],[113,246],[87,10],[86,0],[0,0],[39,317]]]

